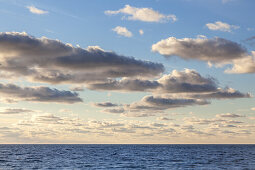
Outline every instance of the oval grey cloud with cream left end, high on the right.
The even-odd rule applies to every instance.
[[[179,56],[183,59],[209,61],[226,64],[247,55],[240,44],[223,38],[183,38],[169,37],[152,45],[152,51],[166,57]]]

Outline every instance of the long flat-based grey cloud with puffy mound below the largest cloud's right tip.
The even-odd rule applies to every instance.
[[[249,98],[251,94],[242,93],[232,88],[221,89],[212,77],[203,77],[195,70],[173,70],[157,80],[121,79],[104,83],[87,84],[92,90],[108,91],[146,91],[156,94],[186,94],[189,98],[234,99]]]

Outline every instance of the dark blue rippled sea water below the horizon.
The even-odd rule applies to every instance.
[[[255,145],[0,145],[0,169],[255,169]]]

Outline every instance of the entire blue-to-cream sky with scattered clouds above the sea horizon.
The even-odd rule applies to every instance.
[[[255,1],[0,4],[0,143],[254,144]]]

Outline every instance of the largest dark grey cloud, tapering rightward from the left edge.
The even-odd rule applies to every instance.
[[[58,40],[26,33],[0,33],[0,71],[29,81],[86,83],[118,77],[154,77],[164,71],[159,63],[107,52],[98,46],[73,47]]]

